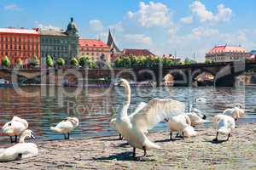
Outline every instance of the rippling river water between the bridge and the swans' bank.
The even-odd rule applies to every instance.
[[[109,127],[112,114],[118,112],[124,102],[124,91],[121,88],[88,88],[75,94],[75,88],[55,88],[46,86],[26,86],[22,94],[14,88],[0,88],[0,126],[12,116],[20,116],[29,122],[29,128],[38,140],[63,139],[63,135],[53,133],[50,126],[55,126],[67,116],[77,116],[79,127],[73,131],[71,138],[84,136],[112,135],[116,132]],[[26,92],[26,93],[25,93]],[[29,96],[32,92],[38,93]],[[256,88],[132,88],[131,109],[139,102],[148,102],[153,98],[172,98],[185,103],[187,108],[192,104],[207,115],[221,113],[226,108],[241,103],[247,112],[239,123],[256,122]],[[195,99],[203,97],[207,104],[196,104]],[[211,126],[211,122],[206,123]],[[154,127],[153,131],[166,130],[164,122]],[[8,144],[9,137],[0,133],[0,144]]]

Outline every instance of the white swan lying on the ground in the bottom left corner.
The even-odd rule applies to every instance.
[[[0,149],[0,161],[17,161],[20,159],[37,156],[38,146],[33,143],[25,143],[26,137],[35,139],[31,130],[26,129],[20,135],[20,143],[7,149]]]

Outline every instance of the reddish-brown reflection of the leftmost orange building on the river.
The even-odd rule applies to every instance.
[[[29,123],[29,128],[41,136],[41,97],[40,88],[22,88],[26,92],[37,91],[39,93],[36,97],[27,97],[15,92],[14,88],[0,88],[0,126],[2,127],[5,122],[9,122],[13,116],[20,116]],[[0,133],[1,136],[5,134]],[[4,137],[4,140],[8,140]],[[1,141],[3,139],[0,139]]]

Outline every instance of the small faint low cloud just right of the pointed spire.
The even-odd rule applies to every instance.
[[[124,39],[126,42],[150,45],[152,44],[151,37],[148,37],[144,34],[125,34]]]

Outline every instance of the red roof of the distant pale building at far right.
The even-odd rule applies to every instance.
[[[216,54],[216,53],[247,53],[246,48],[242,48],[241,46],[230,46],[230,45],[221,45],[212,48],[207,54]]]

